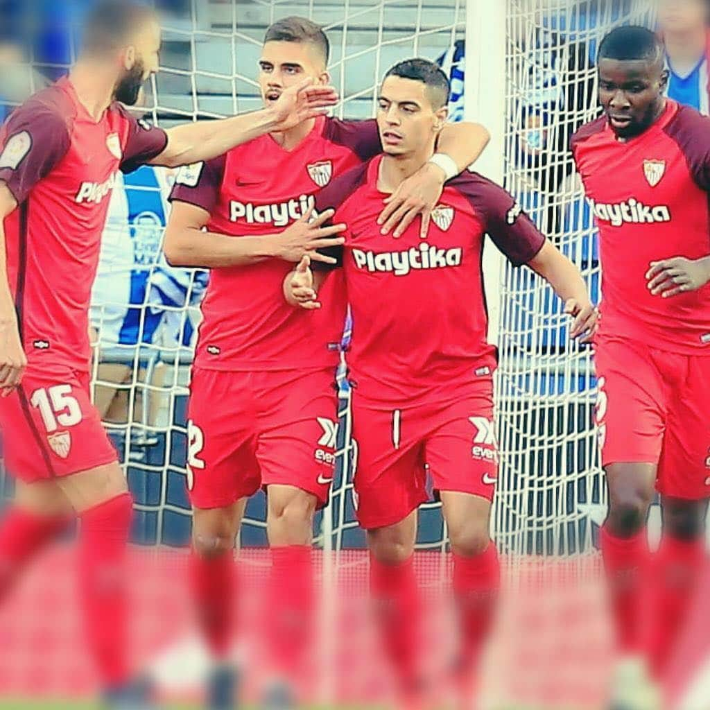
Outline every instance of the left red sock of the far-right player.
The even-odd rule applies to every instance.
[[[611,535],[604,526],[600,542],[619,649],[626,654],[641,653],[645,645],[643,623],[648,615],[643,600],[650,564],[646,529],[623,539]]]

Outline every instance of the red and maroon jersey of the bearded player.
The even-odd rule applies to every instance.
[[[87,368],[89,300],[116,172],[167,143],[117,103],[95,121],[66,78],[0,129],[0,180],[18,203],[4,221],[7,271],[31,368]]]

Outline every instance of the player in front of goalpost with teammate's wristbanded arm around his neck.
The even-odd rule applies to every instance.
[[[371,589],[401,689],[417,680],[417,584],[413,550],[427,474],[441,498],[454,555],[461,621],[461,678],[474,672],[491,623],[498,557],[489,536],[498,450],[493,427],[496,349],[486,337],[481,263],[488,233],[515,265],[546,278],[575,317],[572,335],[596,315],[577,268],[490,180],[466,171],[447,182],[427,239],[410,226],[393,240],[377,224],[386,195],[426,163],[447,114],[449,84],[432,62],[400,62],[378,99],[384,155],[349,171],[317,195],[347,225],[342,248],[353,316],[348,354],[357,444],[357,515],[368,532]],[[284,282],[289,302],[320,312],[330,276],[306,256]],[[337,277],[339,274],[336,273]],[[322,288],[319,288],[320,284]],[[318,300],[315,300],[316,292]]]

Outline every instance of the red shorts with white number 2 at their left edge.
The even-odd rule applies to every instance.
[[[224,508],[285,484],[327,503],[337,432],[334,368],[226,372],[193,368],[187,487],[195,508]]]

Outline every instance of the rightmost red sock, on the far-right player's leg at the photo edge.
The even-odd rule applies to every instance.
[[[660,673],[673,655],[687,617],[705,555],[705,541],[664,535],[653,562],[650,657]]]

